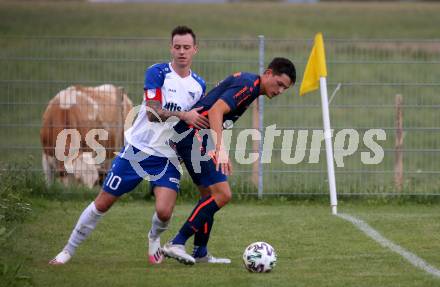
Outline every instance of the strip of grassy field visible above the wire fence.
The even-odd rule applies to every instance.
[[[0,2],[0,35],[168,37],[187,24],[201,38],[439,38],[436,3],[92,4]]]

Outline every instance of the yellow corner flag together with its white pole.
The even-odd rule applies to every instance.
[[[314,91],[319,87],[321,90],[322,121],[324,124],[325,151],[327,158],[327,174],[330,188],[330,205],[332,214],[337,214],[338,200],[336,196],[336,179],[333,159],[332,131],[330,127],[330,112],[327,94],[327,67],[325,61],[324,41],[322,34],[315,36],[312,52],[307,61],[303,81],[301,82],[299,94],[302,96]]]

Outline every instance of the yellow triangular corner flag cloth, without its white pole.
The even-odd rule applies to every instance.
[[[325,65],[324,41],[322,34],[318,33],[315,36],[315,43],[299,88],[300,96],[318,89],[320,77],[327,77],[327,67]]]

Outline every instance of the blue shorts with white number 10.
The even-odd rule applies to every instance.
[[[125,146],[113,160],[102,189],[115,196],[132,191],[143,179],[151,187],[179,191],[180,172],[166,157],[147,155],[132,145]]]

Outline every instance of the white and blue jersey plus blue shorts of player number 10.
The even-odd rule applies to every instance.
[[[149,67],[145,72],[144,100],[133,126],[125,132],[125,147],[113,160],[103,190],[115,196],[133,190],[143,179],[151,186],[179,190],[179,162],[168,140],[176,122],[151,122],[148,100],[156,100],[169,111],[189,111],[203,97],[205,81],[194,72],[182,78],[171,63]]]

